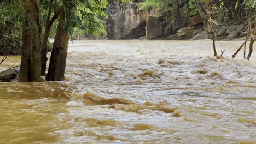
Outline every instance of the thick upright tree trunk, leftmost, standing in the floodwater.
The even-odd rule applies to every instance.
[[[20,81],[40,81],[41,76],[41,19],[40,1],[22,0],[22,57]]]

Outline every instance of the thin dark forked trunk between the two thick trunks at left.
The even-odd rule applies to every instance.
[[[48,43],[48,38],[49,38],[49,33],[51,26],[53,26],[54,21],[59,17],[60,11],[54,11],[53,17],[50,18],[51,16],[51,11],[53,9],[53,0],[49,1],[49,9],[48,9],[48,15],[46,18],[45,22],[45,31],[44,31],[44,36],[43,36],[43,41],[42,41],[42,53],[41,53],[41,75],[45,75],[46,71],[46,63],[47,63],[47,43]]]

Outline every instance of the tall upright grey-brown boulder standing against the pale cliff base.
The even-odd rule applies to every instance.
[[[162,35],[162,28],[157,17],[149,16],[146,29],[146,39],[155,39]]]

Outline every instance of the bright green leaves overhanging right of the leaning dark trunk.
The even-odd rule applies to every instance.
[[[107,4],[106,0],[68,1],[68,7],[65,9],[65,23],[63,23],[65,29],[71,35],[76,28],[87,34],[106,34],[104,21],[100,17],[107,17],[104,13]]]

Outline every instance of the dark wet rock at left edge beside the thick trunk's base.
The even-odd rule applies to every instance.
[[[9,69],[0,73],[0,82],[10,82],[18,76],[20,69]]]

